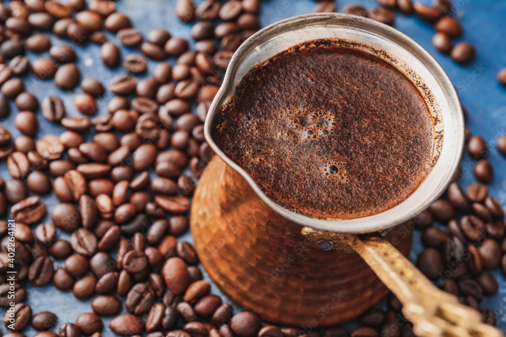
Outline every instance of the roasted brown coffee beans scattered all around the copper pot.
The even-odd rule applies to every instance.
[[[461,31],[453,19],[443,18],[448,7],[441,4],[446,2],[438,1],[433,8],[411,5],[409,0],[380,3],[383,7],[369,12],[358,5],[345,11],[392,23],[392,8],[397,7],[436,22],[444,36]],[[360,318],[363,326],[351,332],[342,327],[306,332],[263,323],[251,312],[234,314],[229,304],[210,294],[192,245],[177,238],[187,232],[189,198],[213,156],[203,136],[210,101],[233,52],[259,29],[260,9],[259,0],[204,0],[198,6],[178,0],[178,17],[193,24],[196,43],[191,50],[189,41],[165,29],[143,36],[109,0],[0,3],[0,119],[15,113],[15,125],[22,133],[12,139],[11,132],[0,126],[0,160],[6,161],[11,175],[5,181],[0,178],[0,215],[10,212],[17,222],[16,325],[5,336],[24,336],[21,331],[31,325],[40,331],[38,337],[99,337],[104,329],[101,317],[114,317],[109,329],[128,336],[413,336],[393,295],[388,310],[372,309]],[[336,8],[321,2],[316,10]],[[116,38],[108,40],[104,30]],[[51,45],[48,34],[69,43]],[[81,79],[73,45],[87,43],[101,45],[104,66],[121,66],[122,74],[105,84]],[[132,52],[121,55],[118,44]],[[457,46],[452,55],[466,52],[466,47],[453,52]],[[30,62],[25,50],[49,51],[50,57]],[[137,75],[147,72],[147,60],[157,61],[157,66],[151,77],[138,80]],[[63,90],[80,86],[74,104],[82,116],[68,117],[56,96],[39,103],[20,78],[30,71]],[[108,114],[91,117],[105,99]],[[10,100],[18,111],[11,112]],[[38,123],[61,124],[66,130],[35,137]],[[477,179],[486,183],[493,178],[493,169],[485,159],[484,144],[474,136],[468,148],[478,158]],[[497,148],[506,155],[506,136],[498,139]],[[187,167],[191,174],[184,173]],[[485,270],[502,265],[506,271],[504,213],[483,183],[463,192],[454,182],[448,189],[449,202],[439,200],[412,220],[423,230],[427,247],[417,266],[433,280],[442,274],[440,286],[474,308],[479,308],[483,296],[497,292],[497,281]],[[40,198],[50,194],[60,202],[53,208]],[[51,221],[44,222],[47,213]],[[457,220],[457,213],[465,215]],[[433,226],[434,219],[447,223],[447,229]],[[70,240],[59,237],[64,236],[61,232],[69,233]],[[0,306],[6,308],[11,301],[6,272],[13,270],[6,221],[0,221],[0,237]],[[55,269],[57,260],[64,261],[63,267]],[[451,275],[446,276],[447,270]],[[52,283],[78,300],[93,299],[90,312],[80,313],[75,322],[61,322],[48,311],[32,312],[23,303],[27,282]],[[128,314],[118,315],[123,306]],[[495,324],[492,311],[483,313],[485,322]]]

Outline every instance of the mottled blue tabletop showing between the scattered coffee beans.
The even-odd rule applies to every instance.
[[[197,1],[197,4],[201,0]],[[429,3],[430,0],[424,0]],[[175,0],[119,0],[117,10],[128,14],[133,21],[133,25],[147,34],[153,28],[168,29],[173,36],[190,37],[190,24],[182,24],[174,13]],[[375,0],[339,0],[338,8],[342,9],[348,3],[361,3],[366,8],[377,6]],[[462,105],[469,112],[468,126],[473,134],[482,135],[488,142],[491,149],[488,159],[493,163],[496,170],[495,178],[490,184],[491,194],[495,196],[501,205],[506,206],[506,158],[503,158],[495,149],[495,139],[506,133],[506,87],[499,85],[495,79],[499,69],[506,67],[506,41],[504,32],[506,32],[506,1],[503,0],[454,0],[456,17],[459,18],[465,33],[460,38],[474,43],[478,50],[477,58],[469,65],[460,66],[453,63],[448,56],[435,51],[431,40],[434,34],[433,27],[415,16],[398,15],[394,27],[406,33],[415,41],[424,46],[436,60],[442,65],[448,73],[450,79],[457,88]],[[291,16],[305,13],[311,13],[315,3],[310,0],[269,0],[263,2],[260,20],[262,26],[269,25],[276,21]],[[110,40],[115,40],[115,36],[107,33]],[[51,35],[54,44],[69,43],[66,40],[59,39]],[[96,77],[104,84],[109,83],[110,79],[122,72],[121,68],[108,69],[103,66],[99,57],[100,47],[94,44],[85,46],[76,46],[78,51],[78,66],[82,78]],[[122,55],[136,51],[121,48]],[[139,52],[138,50],[136,52]],[[48,57],[48,53],[35,55],[28,53],[30,60],[38,57]],[[171,60],[174,62],[174,60]],[[151,76],[156,62],[149,61],[148,72],[144,77]],[[143,76],[141,76],[143,77]],[[79,116],[73,104],[74,94],[80,92],[79,88],[71,92],[64,92],[56,88],[52,80],[39,81],[29,74],[25,76],[25,84],[28,91],[33,92],[39,102],[46,95],[58,95],[65,103],[67,115]],[[105,100],[100,103],[99,115],[107,114]],[[12,105],[12,113],[1,124],[12,132],[13,137],[20,135],[20,132],[14,126],[14,117],[16,108]],[[64,129],[59,125],[52,125],[46,122],[40,112],[39,128],[37,137],[45,133],[60,134]],[[473,161],[469,155],[465,154],[462,158],[463,167],[463,186],[467,186],[475,181],[472,174]],[[5,161],[0,163],[0,176],[4,179],[9,178],[6,170]],[[47,220],[49,220],[50,210],[58,203],[54,197],[43,197],[48,206]],[[416,254],[423,249],[419,240],[419,231],[415,231],[415,246],[411,253],[411,260],[414,261]],[[66,233],[59,233],[60,238],[69,239]],[[188,231],[182,239],[191,241],[191,235]],[[62,267],[63,261],[56,261],[55,268]],[[497,268],[493,274],[501,283],[499,293],[492,297],[485,297],[482,308],[489,308],[495,311],[498,316],[498,326],[506,330],[506,278]],[[207,275],[204,278],[208,281]],[[58,331],[60,324],[64,322],[74,322],[75,318],[83,312],[90,312],[91,300],[76,300],[71,292],[62,293],[56,290],[52,285],[45,287],[33,287],[29,282],[24,282],[28,288],[27,302],[31,305],[33,313],[40,311],[52,311],[58,315],[58,324],[54,331]],[[213,285],[212,292],[219,294],[219,290]],[[384,301],[385,302],[385,301]],[[383,307],[385,303],[381,304]],[[236,310],[238,310],[236,308]],[[5,309],[0,310],[2,316]],[[122,313],[126,311],[123,309]],[[104,318],[103,336],[113,336],[109,330],[108,323],[110,319]],[[357,322],[345,324],[352,329],[357,326]],[[2,333],[7,330],[1,327]],[[36,332],[31,327],[24,330],[27,336],[32,336]]]

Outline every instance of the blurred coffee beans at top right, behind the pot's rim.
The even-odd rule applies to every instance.
[[[420,19],[432,24],[436,30],[432,42],[436,50],[443,54],[449,54],[456,63],[466,64],[471,62],[476,55],[473,44],[462,41],[453,45],[452,39],[462,35],[463,28],[455,19],[455,10],[450,0],[434,0],[432,6],[423,2],[411,0],[377,0],[379,7],[366,10],[360,4],[350,4],[343,9],[343,13],[368,17],[370,19],[392,25],[395,22],[397,9],[404,15],[416,14]],[[332,1],[324,0],[316,4],[313,12],[336,12],[337,8]],[[506,81],[506,74],[499,76]],[[500,80],[499,80],[500,81]]]

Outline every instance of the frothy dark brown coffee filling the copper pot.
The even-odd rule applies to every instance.
[[[438,158],[437,120],[418,88],[339,41],[307,41],[253,67],[211,127],[269,198],[319,219],[398,205]]]

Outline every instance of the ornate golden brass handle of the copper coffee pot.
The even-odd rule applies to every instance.
[[[420,337],[503,337],[498,329],[482,322],[481,314],[439,290],[386,240],[335,234],[304,227],[302,233],[316,242],[347,242],[403,304],[402,313]]]

